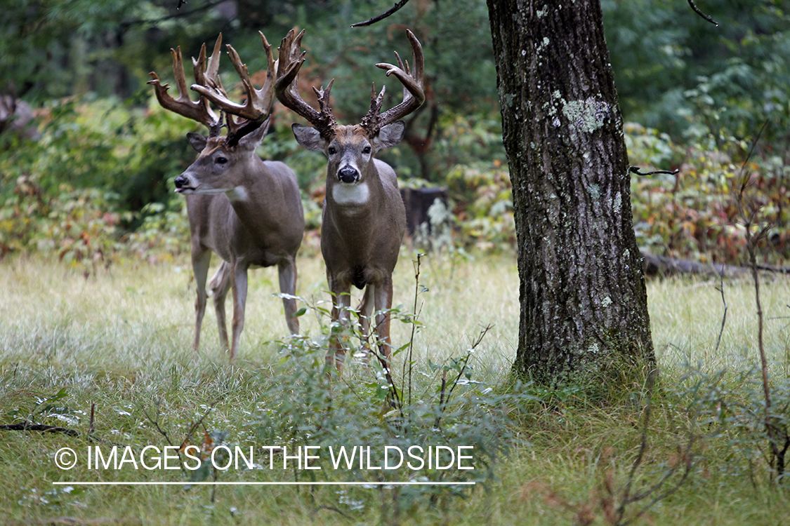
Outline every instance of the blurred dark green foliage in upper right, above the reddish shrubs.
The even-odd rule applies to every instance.
[[[740,139],[773,121],[790,125],[790,2],[602,0],[607,43],[626,121],[674,137],[725,130]]]

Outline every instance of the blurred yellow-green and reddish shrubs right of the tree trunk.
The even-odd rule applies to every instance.
[[[746,228],[767,228],[763,260],[790,260],[790,167],[770,151],[730,137],[674,144],[665,133],[626,125],[634,164],[679,173],[631,179],[634,229],[640,248],[703,262],[746,263]],[[751,154],[751,155],[750,155]]]

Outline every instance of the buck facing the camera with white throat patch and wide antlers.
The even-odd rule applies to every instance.
[[[413,74],[396,53],[398,66],[377,64],[394,74],[404,86],[403,102],[381,113],[386,88],[371,93],[371,109],[358,125],[338,125],[329,106],[332,82],[318,95],[319,111],[299,96],[300,53],[304,32],[289,32],[280,45],[275,93],[277,99],[314,127],[294,124],[300,145],[323,151],[329,159],[326,173],[326,199],[322,215],[321,252],[326,264],[329,290],[333,294],[332,319],[348,323],[351,285],[364,289],[359,304],[361,328],[366,336],[370,319],[377,312],[379,359],[389,369],[392,345],[389,342],[389,309],[393,301],[392,274],[404,236],[406,213],[397,188],[397,176],[386,162],[374,159],[376,153],[393,147],[404,135],[404,122],[398,119],[412,113],[423,103],[423,50],[412,32]],[[337,335],[329,341],[327,362],[342,373],[344,349]]]

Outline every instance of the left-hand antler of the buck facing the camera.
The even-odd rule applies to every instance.
[[[304,64],[304,52],[301,50],[303,35],[304,30],[297,35],[292,29],[280,43],[280,58],[278,59],[274,92],[280,103],[306,118],[315,129],[318,129],[322,137],[331,140],[335,135],[337,121],[332,114],[332,107],[329,106],[329,91],[332,90],[335,80],[329,81],[326,89],[323,87],[321,89],[313,88],[318,97],[318,111],[304,102],[299,95],[299,69]]]

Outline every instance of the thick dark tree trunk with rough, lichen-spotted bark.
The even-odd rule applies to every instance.
[[[622,383],[655,364],[599,0],[487,0],[513,182],[514,372]]]

